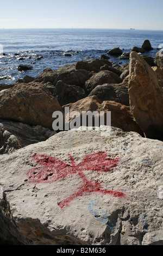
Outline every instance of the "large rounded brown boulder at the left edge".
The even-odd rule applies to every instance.
[[[54,111],[62,111],[58,100],[41,83],[16,84],[0,92],[0,118],[52,129]]]

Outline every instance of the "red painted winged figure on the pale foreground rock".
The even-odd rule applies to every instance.
[[[117,166],[118,159],[111,159],[107,157],[106,152],[99,152],[87,155],[82,162],[77,164],[72,155],[69,155],[71,164],[62,162],[61,160],[45,155],[34,155],[33,159],[39,163],[40,166],[32,168],[28,172],[28,177],[34,182],[54,182],[61,178],[66,178],[72,174],[78,174],[83,180],[83,185],[79,187],[78,191],[72,196],[66,198],[64,201],[58,203],[60,208],[65,208],[74,198],[83,196],[84,193],[104,193],[111,194],[114,197],[123,197],[124,193],[112,190],[105,190],[101,187],[100,182],[89,181],[85,174],[85,170],[93,170],[96,172],[110,172]]]

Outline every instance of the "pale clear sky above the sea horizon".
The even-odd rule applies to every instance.
[[[162,0],[5,0],[0,28],[163,30]]]

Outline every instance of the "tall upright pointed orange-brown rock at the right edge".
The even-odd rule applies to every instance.
[[[163,91],[154,70],[136,52],[130,54],[130,109],[148,138],[162,140]]]

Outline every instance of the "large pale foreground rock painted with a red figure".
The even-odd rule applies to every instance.
[[[113,127],[0,156],[1,241],[162,245],[162,156],[162,142]]]

